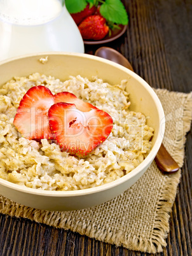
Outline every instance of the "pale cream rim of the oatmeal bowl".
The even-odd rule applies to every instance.
[[[141,78],[141,76],[137,75],[130,69],[127,69],[120,64],[117,64],[111,60],[106,60],[101,57],[97,57],[95,55],[89,55],[86,53],[73,53],[73,52],[41,52],[41,53],[31,53],[31,54],[25,54],[22,56],[18,57],[11,57],[6,60],[1,60],[0,61],[0,66],[3,64],[6,64],[8,62],[12,62],[14,60],[18,59],[26,59],[29,57],[45,57],[49,55],[64,55],[64,56],[73,56],[73,57],[81,57],[83,59],[92,59],[92,60],[97,60],[102,63],[109,64],[109,66],[114,66],[115,68],[121,69],[122,71],[125,71],[130,76],[133,76],[135,80],[137,80],[139,83],[141,83],[144,88],[151,94],[151,96],[154,99],[154,102],[156,104],[156,108],[158,110],[158,115],[159,115],[159,122],[160,122],[160,127],[158,129],[158,134],[156,138],[156,142],[153,145],[153,148],[151,149],[151,152],[149,152],[149,155],[147,155],[146,159],[144,159],[139,166],[135,167],[130,173],[126,174],[125,176],[119,178],[118,180],[111,181],[109,183],[106,183],[104,185],[99,185],[98,187],[93,187],[93,188],[85,188],[81,190],[67,190],[67,191],[56,191],[56,190],[41,190],[37,188],[29,188],[29,187],[24,187],[22,185],[17,185],[15,183],[11,183],[11,181],[6,181],[3,180],[3,178],[0,178],[0,185],[11,188],[13,190],[17,190],[19,192],[25,192],[25,194],[35,194],[37,196],[48,196],[48,197],[73,197],[73,196],[85,196],[88,194],[94,194],[97,192],[101,192],[104,190],[108,190],[109,188],[116,187],[120,185],[121,183],[124,183],[127,180],[130,180],[131,178],[134,178],[137,174],[139,174],[145,167],[149,167],[151,162],[153,161],[154,157],[156,156],[156,153],[158,152],[161,143],[163,141],[163,136],[165,133],[165,122],[162,122],[162,120],[165,119],[165,114],[163,111],[163,107],[161,105],[160,99],[154,92],[154,90],[150,87],[150,85]]]

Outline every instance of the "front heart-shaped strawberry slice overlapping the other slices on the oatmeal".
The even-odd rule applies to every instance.
[[[97,108],[88,112],[75,104],[57,103],[48,111],[50,130],[61,150],[84,157],[106,140],[113,129],[113,119]]]

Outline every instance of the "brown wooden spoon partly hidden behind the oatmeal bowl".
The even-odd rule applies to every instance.
[[[116,62],[134,71],[130,62],[128,62],[128,60],[120,52],[117,52],[113,48],[106,46],[100,47],[95,52],[95,56],[102,57],[107,60],[112,60],[113,62]],[[161,144],[160,149],[156,154],[155,161],[158,168],[163,173],[175,173],[176,171],[179,170],[177,162],[175,162],[175,160],[167,152],[165,146],[163,146],[163,143]]]

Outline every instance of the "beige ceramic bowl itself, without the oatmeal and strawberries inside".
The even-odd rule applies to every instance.
[[[41,57],[46,56],[48,56],[48,62],[45,64],[39,62]],[[106,185],[67,192],[45,191],[15,185],[0,178],[0,194],[32,208],[63,211],[78,210],[104,203],[131,187],[149,167],[163,139],[165,125],[161,124],[161,120],[164,113],[153,89],[132,71],[109,60],[83,53],[50,52],[0,62],[0,85],[13,76],[28,76],[35,72],[55,76],[62,81],[69,78],[69,75],[81,75],[87,78],[97,75],[104,82],[112,85],[127,79],[127,91],[130,93],[132,103],[130,110],[144,113],[149,117],[147,124],[154,127],[153,148],[146,159],[132,172]]]

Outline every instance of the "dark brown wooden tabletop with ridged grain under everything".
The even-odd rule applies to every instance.
[[[127,32],[106,46],[121,52],[135,73],[155,88],[192,90],[192,1],[126,0]],[[94,53],[97,46],[85,46]],[[192,136],[170,218],[167,248],[157,255],[192,255]],[[148,255],[71,231],[0,215],[0,255]]]

